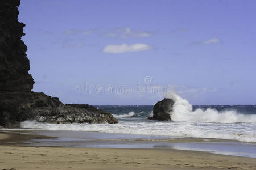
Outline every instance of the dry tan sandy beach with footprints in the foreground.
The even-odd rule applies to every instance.
[[[18,136],[27,135],[1,133],[0,140]],[[255,160],[172,149],[0,146],[0,169],[254,169]]]

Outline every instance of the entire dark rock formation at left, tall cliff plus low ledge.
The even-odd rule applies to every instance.
[[[112,114],[90,105],[66,104],[33,92],[27,46],[21,40],[25,24],[18,21],[19,0],[0,3],[0,126],[18,127],[26,120],[52,123],[117,123]]]

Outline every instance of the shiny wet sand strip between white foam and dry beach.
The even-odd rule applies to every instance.
[[[256,144],[224,139],[162,138],[158,136],[95,131],[0,130],[0,146],[134,148],[203,151],[211,154],[256,158]],[[1,137],[1,136],[0,136]]]

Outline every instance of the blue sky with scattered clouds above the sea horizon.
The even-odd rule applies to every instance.
[[[256,104],[256,1],[20,0],[33,91],[63,103]]]

